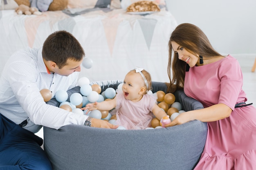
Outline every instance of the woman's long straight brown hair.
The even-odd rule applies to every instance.
[[[169,40],[169,60],[168,60],[168,92],[173,93],[177,89],[184,88],[184,79],[186,72],[186,62],[178,58],[178,53],[175,53],[171,42],[177,44],[191,52],[195,56],[203,56],[204,59],[221,56],[210,44],[209,39],[203,31],[197,26],[189,23],[178,25]],[[173,56],[173,58],[172,58]],[[171,74],[172,72],[172,74]]]

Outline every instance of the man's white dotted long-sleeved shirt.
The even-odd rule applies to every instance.
[[[27,48],[13,54],[0,78],[0,113],[16,124],[28,121],[25,129],[36,133],[42,126],[59,129],[67,124],[83,125],[88,116],[47,105],[41,89],[55,93],[76,86],[79,72],[69,76],[48,74],[42,48]]]

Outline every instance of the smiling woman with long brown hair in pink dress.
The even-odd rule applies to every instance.
[[[256,109],[245,103],[238,61],[216,52],[197,26],[180,24],[169,40],[168,76],[169,92],[184,89],[204,105],[204,109],[181,113],[166,125],[207,122],[207,140],[195,170],[255,168]]]

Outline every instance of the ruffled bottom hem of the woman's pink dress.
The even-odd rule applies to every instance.
[[[225,155],[210,157],[208,153],[202,153],[194,170],[255,170],[255,168],[256,149],[252,149],[236,158]]]

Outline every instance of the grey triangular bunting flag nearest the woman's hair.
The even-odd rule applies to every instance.
[[[142,30],[142,33],[144,35],[146,44],[148,46],[148,50],[150,49],[150,45],[151,45],[151,41],[152,41],[152,37],[154,34],[154,30],[155,30],[155,26],[157,24],[157,20],[153,19],[153,18],[142,18],[139,19],[139,24]]]

